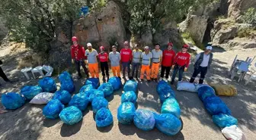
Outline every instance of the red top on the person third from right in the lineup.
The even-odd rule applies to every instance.
[[[174,61],[175,51],[165,50],[162,57],[162,65],[165,67],[171,67]]]

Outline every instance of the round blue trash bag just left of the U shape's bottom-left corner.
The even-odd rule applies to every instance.
[[[113,123],[113,116],[109,109],[101,108],[95,116],[96,126],[106,127]]]

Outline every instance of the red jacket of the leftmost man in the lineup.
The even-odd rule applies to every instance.
[[[71,46],[71,58],[76,61],[81,61],[83,59],[87,59],[85,57],[85,48],[82,45],[72,45]]]

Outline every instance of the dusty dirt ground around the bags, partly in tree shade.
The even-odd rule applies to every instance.
[[[229,68],[232,64],[235,54],[239,59],[245,59],[247,56],[253,57],[256,49],[223,51],[215,49],[214,61],[210,73],[208,73],[206,82],[220,84],[232,84],[238,89],[238,95],[235,97],[221,97],[227,106],[232,110],[232,115],[238,119],[238,126],[245,133],[248,140],[256,137],[256,82],[250,82],[245,86],[245,80],[237,82],[237,78],[229,78]],[[11,48],[0,48],[0,59],[5,64],[2,69],[12,79],[13,83],[5,83],[0,79],[2,86],[0,93],[19,92],[24,85],[36,85],[38,79],[27,81],[24,76],[16,69],[18,60],[26,51],[10,54]],[[256,61],[254,61],[255,63]],[[184,80],[188,80],[193,73],[192,64],[189,72],[184,74]],[[85,79],[75,79],[75,93],[82,87]],[[245,76],[248,79],[248,76]],[[56,79],[58,82],[58,79]],[[124,81],[123,81],[124,82]],[[198,79],[197,79],[198,82]],[[174,84],[175,85],[175,84]],[[156,93],[156,82],[139,82],[139,93],[137,106],[159,112],[161,104]],[[172,86],[176,89],[175,86]],[[217,127],[210,116],[206,113],[203,103],[196,93],[178,92],[175,90],[177,100],[181,107],[181,120],[183,128],[181,132],[174,136],[167,136],[154,129],[149,132],[139,130],[134,125],[123,126],[117,121],[117,107],[120,105],[120,95],[122,90],[114,92],[114,95],[107,98],[109,108],[114,117],[114,124],[98,129],[94,122],[94,114],[91,107],[85,110],[83,120],[74,126],[67,126],[58,120],[47,120],[42,115],[43,105],[25,104],[18,110],[9,110],[6,114],[0,114],[0,139],[225,139],[219,127]],[[1,94],[0,94],[1,95]],[[2,107],[2,104],[0,104]]]

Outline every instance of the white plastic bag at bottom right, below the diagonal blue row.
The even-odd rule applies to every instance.
[[[229,140],[245,140],[245,135],[237,126],[228,126],[222,129],[222,134]]]

